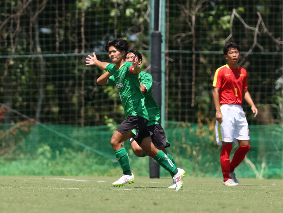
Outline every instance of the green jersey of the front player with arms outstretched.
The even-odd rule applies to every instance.
[[[141,93],[138,74],[135,75],[130,72],[131,66],[132,63],[125,62],[119,70],[117,70],[115,65],[108,64],[106,70],[112,74],[114,78],[114,84],[118,88],[125,117],[138,115],[148,120],[145,98]]]

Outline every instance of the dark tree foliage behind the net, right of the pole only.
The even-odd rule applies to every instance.
[[[168,63],[166,71],[166,120],[196,122],[196,112],[203,113],[204,118],[214,117],[212,81],[215,70],[226,63],[223,46],[230,41],[241,47],[239,65],[248,70],[248,86],[254,102],[277,102],[271,97],[281,96],[282,90],[282,87],[275,89],[275,82],[282,74],[279,71],[281,14],[280,1],[229,1],[227,4],[227,1],[168,0],[167,57],[172,63]],[[262,119],[266,118],[261,116],[265,111],[255,120],[246,105],[244,102],[250,122],[264,123]],[[268,108],[272,116],[265,123],[279,119],[273,110]]]

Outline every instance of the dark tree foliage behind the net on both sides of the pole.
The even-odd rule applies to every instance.
[[[204,122],[214,118],[211,85],[228,41],[241,46],[249,91],[272,115],[260,122],[280,119],[282,2],[227,2],[166,1],[166,120],[197,123],[200,113]],[[45,123],[120,123],[116,88],[98,86],[103,71],[86,67],[85,57],[95,52],[110,62],[106,40],[123,37],[141,51],[148,70],[151,12],[146,0],[1,1],[0,103]],[[260,123],[246,105],[245,111],[251,123]],[[6,110],[2,122],[21,120]]]

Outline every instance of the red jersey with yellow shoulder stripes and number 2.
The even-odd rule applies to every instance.
[[[231,69],[228,64],[219,67],[214,74],[213,86],[219,89],[219,104],[242,105],[243,90],[247,86],[247,70]]]

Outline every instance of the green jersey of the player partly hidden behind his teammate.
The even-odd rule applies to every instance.
[[[148,112],[148,126],[153,124],[158,124],[160,122],[160,110],[159,107],[152,97],[151,87],[152,87],[152,76],[144,71],[139,74],[139,80],[141,84],[144,85],[147,91],[143,94],[145,96],[145,107]],[[115,80],[114,76],[108,78],[108,85],[114,86]]]

